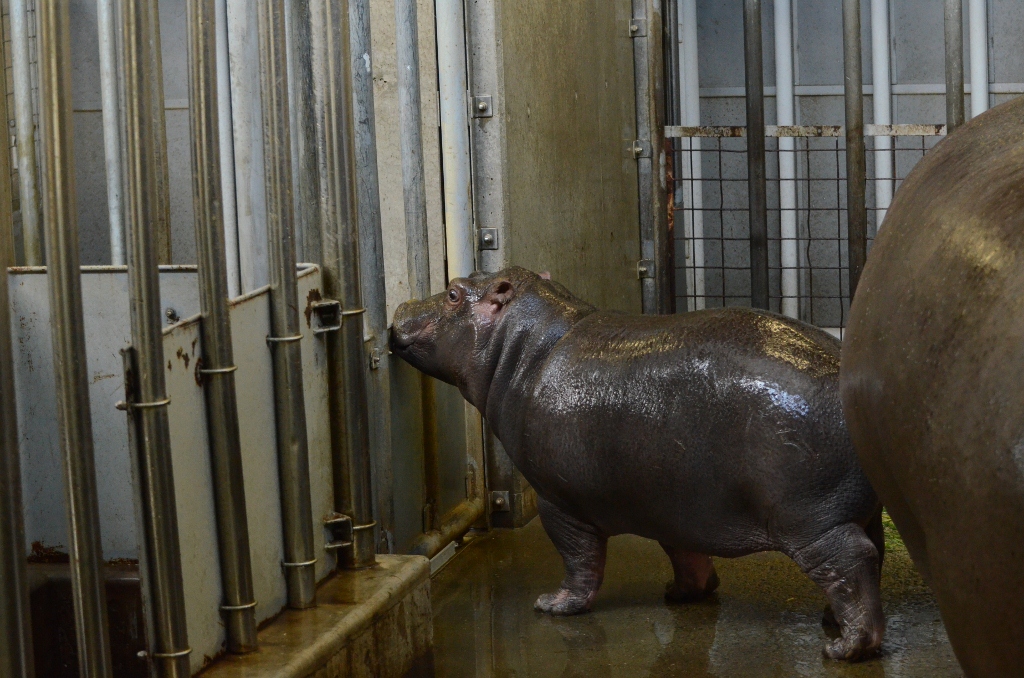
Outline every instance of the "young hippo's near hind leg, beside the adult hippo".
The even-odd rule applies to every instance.
[[[839,525],[790,555],[825,593],[842,635],[825,646],[833,660],[857,661],[882,645],[879,551],[864,529]]]

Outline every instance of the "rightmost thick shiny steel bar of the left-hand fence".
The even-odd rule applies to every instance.
[[[355,128],[348,3],[314,0],[313,83],[316,93],[316,151],[321,170],[321,223],[328,294],[346,313],[339,332],[328,335],[331,385],[331,447],[334,502],[352,519],[352,547],[339,565],[368,567],[375,561],[370,434],[364,369],[364,312],[359,289]]]

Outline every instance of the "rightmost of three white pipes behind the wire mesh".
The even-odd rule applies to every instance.
[[[889,0],[871,0],[871,105],[876,125],[892,125],[892,72],[889,66]],[[893,202],[893,139],[874,137],[874,229],[882,227]]]

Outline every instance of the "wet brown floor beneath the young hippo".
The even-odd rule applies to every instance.
[[[660,547],[616,537],[594,610],[551,618],[534,600],[558,586],[562,563],[540,520],[492,533],[431,583],[437,676],[963,675],[902,545],[890,547],[883,573],[883,655],[858,665],[821,656],[825,599],[791,560],[763,553],[716,567],[722,585],[711,599],[668,605]]]

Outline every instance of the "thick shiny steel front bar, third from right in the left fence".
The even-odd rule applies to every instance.
[[[221,227],[216,0],[188,0],[188,118],[191,127],[193,204],[203,310],[206,420],[217,509],[221,610],[227,650],[256,649],[256,601],[249,555],[249,521],[242,475],[234,355],[227,308],[224,230]]]

